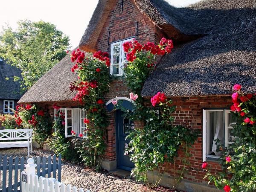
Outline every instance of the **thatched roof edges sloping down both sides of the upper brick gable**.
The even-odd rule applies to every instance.
[[[118,0],[99,0],[87,29],[81,38],[79,48],[86,52],[95,52],[96,44],[107,17]],[[169,38],[176,41],[188,41],[202,34],[189,22],[187,13],[179,12],[164,0],[133,0],[140,12],[148,18]]]

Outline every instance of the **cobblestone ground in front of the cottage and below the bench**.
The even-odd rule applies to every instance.
[[[12,155],[12,157],[26,157],[27,148],[16,148],[0,150],[2,155]],[[31,157],[42,157],[52,155],[49,151],[35,150]],[[71,184],[77,188],[89,189],[90,192],[154,192],[153,189],[146,188],[143,184],[131,179],[121,179],[109,173],[99,173],[84,166],[70,162],[62,162],[61,182]],[[162,189],[157,191],[169,191]]]

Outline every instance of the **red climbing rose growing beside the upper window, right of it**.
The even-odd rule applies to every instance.
[[[170,53],[173,48],[173,42],[172,40],[162,38],[158,45],[153,42],[142,45],[133,39],[132,41],[125,42],[123,48],[127,53],[127,61],[130,61],[124,67],[125,82],[133,93],[136,93],[140,98],[145,80],[157,66],[157,58]]]

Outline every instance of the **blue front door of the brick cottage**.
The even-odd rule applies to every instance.
[[[123,117],[123,112],[116,111],[116,160],[117,168],[131,171],[134,163],[130,161],[130,157],[125,155],[125,146],[129,140],[125,140],[127,135],[134,130],[134,122]]]

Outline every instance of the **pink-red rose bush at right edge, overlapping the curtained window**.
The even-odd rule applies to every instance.
[[[256,190],[256,93],[243,93],[235,84],[230,109],[237,123],[231,131],[236,138],[229,148],[219,145],[223,172],[215,176],[207,169],[206,177],[225,192],[249,192]]]

